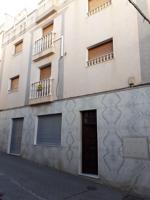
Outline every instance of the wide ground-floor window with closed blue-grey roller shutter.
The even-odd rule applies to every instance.
[[[62,115],[44,115],[38,117],[37,144],[61,144]]]

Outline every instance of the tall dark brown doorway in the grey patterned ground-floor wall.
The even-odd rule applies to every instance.
[[[82,112],[82,173],[98,175],[96,110]]]

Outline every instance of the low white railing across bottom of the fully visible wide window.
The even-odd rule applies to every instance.
[[[103,63],[103,62],[112,60],[113,58],[114,58],[114,54],[113,54],[113,52],[111,52],[111,53],[102,55],[102,56],[100,56],[100,57],[97,57],[97,58],[88,60],[88,61],[87,61],[87,66],[89,67],[89,66],[92,66],[92,65],[96,65],[96,64],[99,64],[99,63]]]

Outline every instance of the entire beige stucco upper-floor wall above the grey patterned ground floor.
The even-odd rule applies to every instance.
[[[136,10],[126,0],[112,0],[112,5],[87,16],[88,1],[70,1],[58,14],[34,25],[24,38],[23,52],[14,55],[14,44],[5,48],[3,63],[0,109],[23,106],[27,82],[39,80],[39,67],[52,63],[53,99],[56,97],[59,67],[63,81],[63,97],[73,97],[128,87],[128,78],[134,77],[135,84],[141,83],[139,30]],[[64,13],[64,21],[63,21]],[[30,46],[42,37],[42,27],[54,20],[56,38],[64,26],[64,66],[59,66],[61,41],[55,42],[55,54],[38,62],[33,62]],[[33,39],[31,41],[31,36]],[[114,59],[87,67],[87,47],[113,38]],[[31,70],[31,74],[28,74]],[[20,74],[18,92],[8,93],[9,78]],[[30,80],[28,79],[30,76]]]

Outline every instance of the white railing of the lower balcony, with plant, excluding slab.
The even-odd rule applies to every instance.
[[[30,99],[38,99],[52,95],[52,78],[44,79],[31,84]]]

